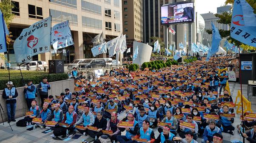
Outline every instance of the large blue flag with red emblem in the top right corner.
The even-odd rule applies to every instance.
[[[253,14],[253,8],[245,0],[235,0],[230,36],[244,44],[256,47],[256,21],[253,21],[255,18],[250,19],[253,16],[255,17],[256,14]]]

